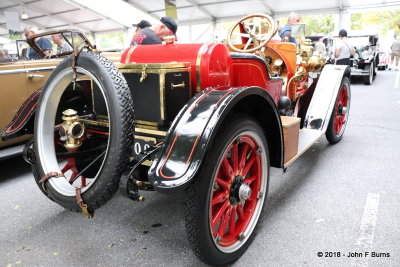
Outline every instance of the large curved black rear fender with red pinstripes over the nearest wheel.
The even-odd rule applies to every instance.
[[[273,167],[283,167],[283,133],[272,97],[259,87],[208,88],[193,97],[172,123],[148,175],[160,192],[184,190],[210,153],[221,124],[233,112],[260,122],[269,145]]]

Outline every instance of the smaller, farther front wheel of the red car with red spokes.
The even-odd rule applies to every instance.
[[[340,84],[328,128],[325,132],[326,139],[328,139],[328,142],[331,144],[336,144],[342,140],[349,118],[350,99],[350,80],[344,77]]]

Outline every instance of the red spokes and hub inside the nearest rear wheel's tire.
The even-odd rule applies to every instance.
[[[215,242],[229,247],[242,240],[259,201],[262,159],[258,144],[242,135],[226,149],[211,193],[210,227]]]

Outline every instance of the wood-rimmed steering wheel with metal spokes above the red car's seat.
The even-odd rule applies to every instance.
[[[239,28],[239,32],[237,28]],[[275,27],[275,22],[270,16],[261,13],[250,14],[241,18],[229,29],[228,46],[236,52],[253,53],[264,47],[275,35],[277,29],[278,27]],[[242,43],[246,43],[243,49],[232,44],[234,35],[240,36]]]

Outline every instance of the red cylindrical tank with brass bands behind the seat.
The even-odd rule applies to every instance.
[[[120,63],[190,63],[193,95],[210,86],[232,85],[232,59],[223,44],[160,44],[127,48]]]

